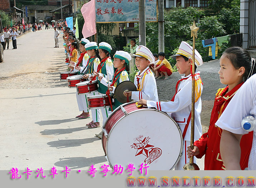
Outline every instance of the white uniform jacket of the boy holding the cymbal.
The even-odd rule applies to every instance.
[[[138,88],[138,81],[139,88]],[[158,101],[158,93],[156,88],[156,81],[154,74],[151,72],[150,68],[146,68],[140,73],[137,72],[134,78],[134,84],[137,87],[138,91],[132,91],[131,99],[132,100],[151,100]],[[142,84],[142,85],[141,85]]]

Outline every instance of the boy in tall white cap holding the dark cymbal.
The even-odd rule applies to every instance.
[[[131,96],[132,100],[158,101],[155,77],[149,68],[149,64],[155,61],[155,57],[147,47],[142,45],[136,48],[136,54],[132,57],[136,58],[135,64],[139,70],[134,78],[137,91],[126,91],[124,95]]]

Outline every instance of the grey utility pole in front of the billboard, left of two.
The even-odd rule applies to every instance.
[[[139,45],[146,46],[145,0],[139,0]]]

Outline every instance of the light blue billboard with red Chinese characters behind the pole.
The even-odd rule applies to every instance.
[[[156,0],[145,0],[146,21],[157,21]],[[139,22],[139,0],[95,0],[97,22]]]

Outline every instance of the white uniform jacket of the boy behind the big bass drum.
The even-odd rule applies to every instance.
[[[195,72],[199,74],[200,72]],[[155,107],[158,110],[161,110],[163,112],[169,112],[171,113],[171,117],[177,122],[179,125],[182,133],[184,131],[185,125],[187,124],[187,120],[189,117],[189,114],[191,112],[191,93],[192,93],[192,77],[191,75],[188,76],[182,76],[182,78],[187,78],[187,80],[182,80],[180,82],[178,93],[175,95],[174,101],[168,101],[168,102],[155,102],[155,101],[147,101],[148,108]],[[195,79],[197,80],[199,77],[195,76]],[[197,82],[197,81],[196,81]],[[203,85],[201,82],[199,83],[197,88],[195,88],[195,91],[198,91],[199,96],[201,96]],[[201,91],[200,91],[201,89]],[[198,97],[198,94],[195,92],[195,98]],[[201,97],[198,98],[197,102],[195,102],[195,132],[194,132],[194,140],[199,139],[202,136],[202,125],[201,125],[201,118],[200,113],[202,110],[202,101]],[[191,130],[191,120],[189,122],[189,126],[187,129],[187,132],[185,134],[184,140],[190,141],[190,130]]]

